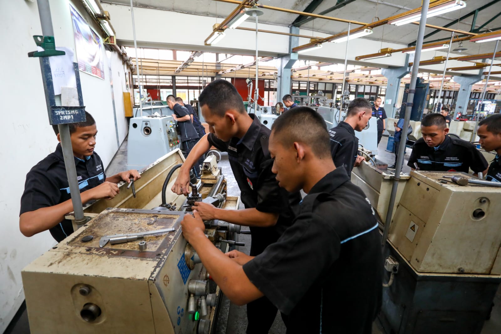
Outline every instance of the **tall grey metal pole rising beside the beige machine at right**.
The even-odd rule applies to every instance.
[[[397,196],[398,181],[400,180],[400,171],[404,161],[405,144],[407,143],[407,128],[409,127],[410,114],[412,111],[412,103],[414,101],[414,92],[416,90],[416,79],[419,71],[419,60],[421,59],[421,50],[423,48],[424,29],[426,28],[426,14],[430,0],[423,0],[421,19],[419,20],[419,28],[417,31],[417,44],[416,53],[414,55],[414,62],[412,64],[412,74],[410,77],[409,95],[407,96],[407,105],[405,108],[404,125],[402,128],[402,137],[400,139],[400,147],[398,149],[397,165],[395,166],[395,176],[393,177],[393,184],[391,186],[390,203],[388,204],[388,211],[386,213],[386,220],[384,223],[383,238],[381,244],[386,243],[388,233],[390,232],[391,216],[393,215],[393,206],[395,205],[395,198]]]

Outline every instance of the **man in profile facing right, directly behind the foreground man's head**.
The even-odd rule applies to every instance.
[[[329,130],[331,155],[336,167],[344,166],[348,177],[351,170],[364,159],[358,155],[358,138],[355,130],[362,131],[372,117],[371,104],[363,97],[357,97],[348,105],[346,118]]]

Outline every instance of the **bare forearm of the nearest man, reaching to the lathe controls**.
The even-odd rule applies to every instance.
[[[263,294],[252,284],[241,265],[224,255],[204,234],[190,239],[190,244],[200,257],[212,280],[230,301],[244,305]]]

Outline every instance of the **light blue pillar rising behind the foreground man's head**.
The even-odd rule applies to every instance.
[[[299,34],[299,27],[291,27],[291,34]],[[291,94],[292,87],[292,66],[298,60],[298,53],[292,52],[292,49],[299,46],[299,37],[289,37],[289,54],[277,59],[278,78],[277,78],[277,102],[282,101],[285,94]]]

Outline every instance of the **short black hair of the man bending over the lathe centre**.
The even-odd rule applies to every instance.
[[[243,100],[235,86],[230,82],[218,79],[209,83],[198,96],[198,105],[206,105],[219,117],[224,117],[226,110],[234,109],[243,114],[246,112]]]

